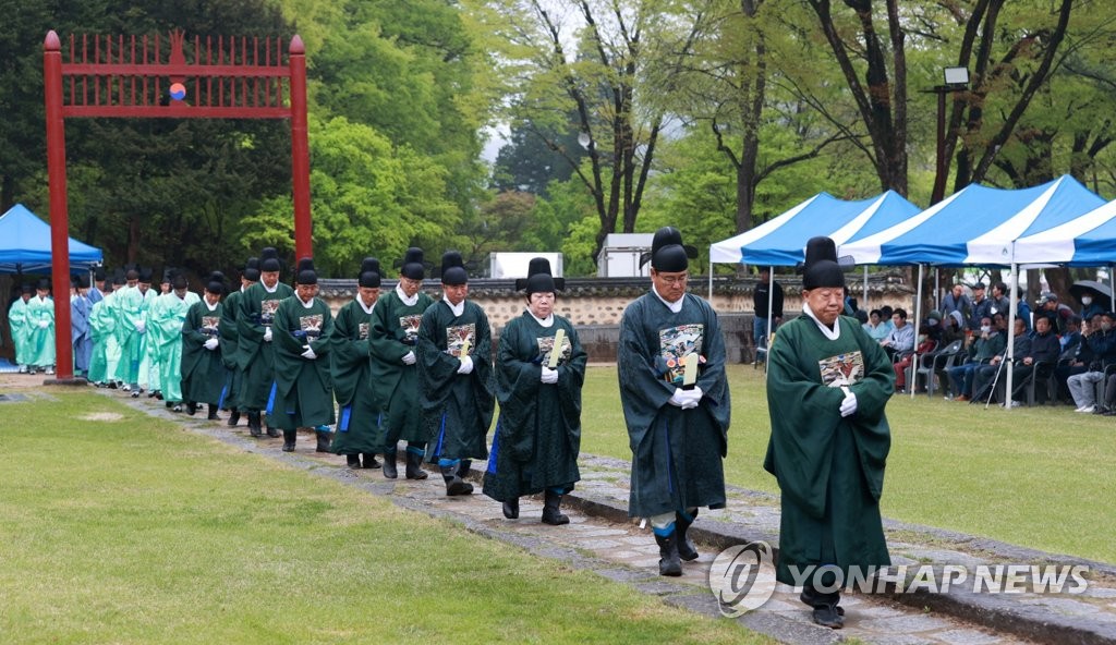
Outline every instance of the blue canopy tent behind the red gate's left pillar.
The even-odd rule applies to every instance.
[[[88,271],[102,258],[100,249],[69,238],[70,269]],[[50,272],[50,224],[23,204],[0,215],[0,272]]]

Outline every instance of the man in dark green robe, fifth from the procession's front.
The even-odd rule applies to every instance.
[[[426,454],[426,431],[419,405],[417,356],[419,326],[422,315],[434,299],[422,290],[426,268],[423,250],[407,249],[400,267],[400,281],[389,293],[376,301],[372,312],[372,382],[376,384],[373,396],[383,412],[379,437],[376,444],[384,453],[384,476],[395,479],[396,446],[407,442],[406,478],[426,479],[422,469]]]

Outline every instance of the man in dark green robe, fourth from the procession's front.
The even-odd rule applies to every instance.
[[[488,458],[484,436],[496,406],[492,383],[492,335],[488,316],[469,295],[461,253],[442,256],[442,299],[422,315],[419,373],[423,423],[430,443],[426,461],[436,463],[445,494],[473,492],[464,481],[473,459]]]

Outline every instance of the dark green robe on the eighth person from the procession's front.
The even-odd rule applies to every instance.
[[[263,340],[263,331],[275,320],[279,302],[295,295],[295,290],[282,282],[276,283],[275,291],[268,291],[263,282],[257,282],[244,290],[237,311],[237,366],[243,374],[240,404],[247,411],[263,410],[268,406],[275,384],[275,339]]]

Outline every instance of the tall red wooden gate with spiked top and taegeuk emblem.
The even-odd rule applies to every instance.
[[[277,38],[70,35],[62,60],[47,32],[42,66],[50,182],[50,252],[57,381],[74,377],[69,306],[66,117],[289,118],[296,258],[312,256],[306,48],[295,36],[283,64]]]

